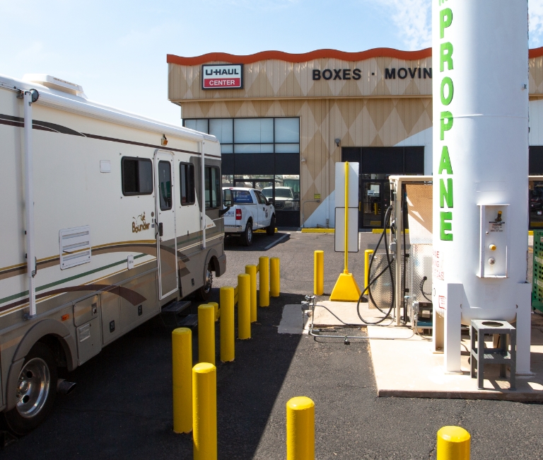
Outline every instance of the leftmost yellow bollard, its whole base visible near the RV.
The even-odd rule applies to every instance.
[[[172,332],[173,431],[192,431],[192,331]]]

